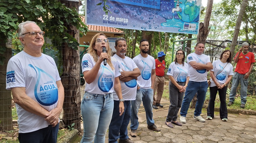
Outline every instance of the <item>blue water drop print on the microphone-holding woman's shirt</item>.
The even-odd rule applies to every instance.
[[[103,92],[109,92],[113,87],[114,73],[103,65],[101,65],[101,68],[102,73],[98,79],[98,87]],[[105,74],[103,75],[103,73]]]

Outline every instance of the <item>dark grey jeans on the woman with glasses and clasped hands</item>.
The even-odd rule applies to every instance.
[[[184,86],[185,82],[177,82],[178,85]],[[179,92],[179,89],[169,81],[169,99],[170,106],[166,117],[167,122],[176,121],[178,117],[179,108],[182,104],[184,92]]]

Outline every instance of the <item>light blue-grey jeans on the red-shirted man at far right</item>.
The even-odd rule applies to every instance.
[[[234,102],[235,96],[237,93],[237,87],[239,85],[239,82],[241,83],[241,104],[246,104],[246,97],[247,97],[247,87],[248,87],[248,78],[244,79],[245,75],[242,75],[240,73],[234,72],[233,75],[233,81],[232,81],[232,87],[229,94],[229,101]]]

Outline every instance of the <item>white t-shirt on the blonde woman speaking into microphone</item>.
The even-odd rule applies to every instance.
[[[109,64],[104,66],[104,63],[102,62],[96,79],[90,84],[86,83],[86,88],[84,91],[93,94],[107,94],[114,92],[115,77],[120,76],[121,73],[117,60],[115,58],[111,58],[111,62],[115,70],[112,70]],[[82,73],[84,71],[91,70],[95,64],[96,62],[91,54],[85,54],[82,58]]]

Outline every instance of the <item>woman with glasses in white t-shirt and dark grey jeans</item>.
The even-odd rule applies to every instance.
[[[182,104],[182,99],[184,92],[189,81],[189,67],[187,63],[184,63],[185,53],[183,50],[179,49],[176,52],[176,57],[174,62],[169,66],[167,75],[170,79],[169,81],[169,98],[170,106],[168,114],[166,117],[165,124],[173,128],[172,124],[182,126],[181,123],[177,121],[178,111]]]

